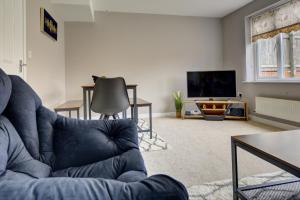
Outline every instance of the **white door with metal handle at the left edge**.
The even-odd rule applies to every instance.
[[[0,0],[0,68],[26,80],[26,0]]]

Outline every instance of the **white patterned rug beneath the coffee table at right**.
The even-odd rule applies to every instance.
[[[295,179],[287,172],[274,172],[242,178],[239,186],[258,185]],[[188,188],[190,200],[232,200],[231,180],[216,181]]]

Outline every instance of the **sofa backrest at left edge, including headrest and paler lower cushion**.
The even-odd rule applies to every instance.
[[[0,175],[6,169],[37,178],[51,173],[48,165],[38,161],[36,111],[41,105],[21,78],[9,77],[0,68]]]

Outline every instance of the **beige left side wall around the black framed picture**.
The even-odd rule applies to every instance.
[[[64,22],[50,0],[27,0],[27,80],[42,98],[44,105],[53,108],[65,101],[65,43]],[[58,23],[58,41],[54,42],[40,31],[40,7]],[[28,52],[32,52],[32,58]]]

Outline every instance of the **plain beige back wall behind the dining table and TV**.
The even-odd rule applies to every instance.
[[[96,12],[95,23],[66,23],[67,99],[81,99],[91,75],[123,76],[154,112],[174,110],[186,72],[223,67],[220,19]]]

